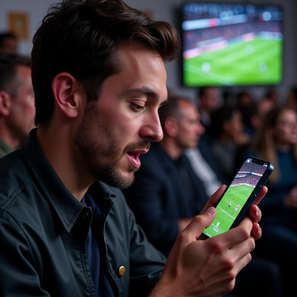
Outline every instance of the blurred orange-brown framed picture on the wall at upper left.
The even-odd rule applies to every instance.
[[[28,33],[28,15],[26,13],[9,12],[8,13],[9,30],[20,40],[27,40]]]

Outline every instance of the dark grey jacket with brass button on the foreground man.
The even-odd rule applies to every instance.
[[[0,159],[0,295],[94,296],[85,248],[92,211],[61,182],[36,131]],[[88,191],[103,213],[100,265],[115,296],[146,296],[165,258],[136,225],[120,190],[98,181]]]

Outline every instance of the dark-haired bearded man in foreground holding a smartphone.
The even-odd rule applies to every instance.
[[[32,49],[38,129],[0,161],[4,295],[147,296],[161,273],[150,296],[232,289],[261,235],[257,206],[238,228],[197,241],[221,187],[164,268],[121,192],[103,183],[129,186],[139,154],[162,139],[163,60],[178,50],[172,26],[119,0],[66,0],[46,15]]]

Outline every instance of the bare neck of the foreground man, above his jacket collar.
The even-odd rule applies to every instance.
[[[39,128],[36,140],[64,186],[81,201],[94,180],[86,173],[77,172],[72,161],[74,142],[71,133],[66,132],[63,127],[59,129],[59,133],[55,129],[45,131]]]

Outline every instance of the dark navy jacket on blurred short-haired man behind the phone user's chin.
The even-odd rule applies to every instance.
[[[198,215],[208,198],[184,154],[175,161],[152,143],[140,161],[135,182],[124,194],[148,240],[168,256],[179,233],[178,219]]]

